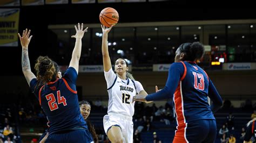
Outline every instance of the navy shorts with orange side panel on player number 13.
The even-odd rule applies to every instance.
[[[197,120],[184,125],[179,125],[174,136],[174,143],[212,143],[215,141],[217,127],[215,120]]]

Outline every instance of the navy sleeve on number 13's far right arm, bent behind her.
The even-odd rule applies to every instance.
[[[223,101],[219,95],[219,92],[217,91],[212,81],[210,80],[210,78],[209,78],[208,96],[212,101],[211,110],[213,112],[218,111],[223,105]]]

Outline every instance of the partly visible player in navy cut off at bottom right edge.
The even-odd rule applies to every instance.
[[[244,143],[249,143],[251,138],[254,139],[253,142],[256,142],[256,128],[255,128],[255,120],[256,118],[250,120],[247,123],[247,129],[244,137]]]

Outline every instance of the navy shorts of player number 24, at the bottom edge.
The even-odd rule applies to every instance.
[[[92,135],[89,130],[73,130],[66,133],[53,133],[49,134],[45,143],[64,142],[64,143],[76,143],[76,142],[92,142]]]

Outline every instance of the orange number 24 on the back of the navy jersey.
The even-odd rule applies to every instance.
[[[56,98],[53,94],[49,94],[45,96],[47,101],[48,101],[48,105],[51,111],[58,109],[58,104],[63,104],[64,106],[66,106],[66,98],[63,96],[60,96],[60,91],[57,91],[57,102],[56,102]]]

